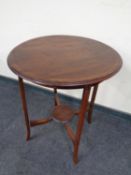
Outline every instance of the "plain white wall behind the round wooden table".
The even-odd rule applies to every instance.
[[[131,113],[131,1],[0,0],[0,74],[17,78],[6,63],[14,46],[52,34],[90,37],[115,48],[123,68],[100,85],[96,102]],[[80,90],[62,92],[81,97]]]

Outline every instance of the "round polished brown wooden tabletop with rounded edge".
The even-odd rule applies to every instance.
[[[119,71],[120,55],[108,45],[78,36],[45,36],[15,47],[10,69],[39,85],[81,88],[99,83]]]

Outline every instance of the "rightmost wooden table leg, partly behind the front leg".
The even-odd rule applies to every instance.
[[[93,107],[94,107],[94,102],[95,102],[97,90],[98,90],[98,84],[93,86],[92,97],[91,97],[90,104],[88,106],[88,117],[87,117],[88,123],[92,122],[92,112],[93,112]]]

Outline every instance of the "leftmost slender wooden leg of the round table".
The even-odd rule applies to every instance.
[[[28,111],[27,111],[24,83],[23,83],[23,79],[20,77],[19,77],[19,88],[20,88],[22,108],[23,108],[25,124],[26,124],[26,140],[29,140],[30,139],[30,121],[29,121]]]

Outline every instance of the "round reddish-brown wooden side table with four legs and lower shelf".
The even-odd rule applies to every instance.
[[[77,163],[85,113],[88,112],[88,123],[91,123],[98,84],[119,71],[122,66],[120,55],[113,48],[93,39],[64,35],[46,36],[15,47],[8,56],[8,65],[19,78],[26,139],[30,138],[31,127],[46,124],[53,119],[59,120],[73,142],[73,160]],[[55,107],[52,116],[39,120],[29,119],[23,79],[54,88]],[[78,88],[83,89],[78,111],[60,103],[57,89]],[[78,115],[76,133],[69,126],[74,114]]]

